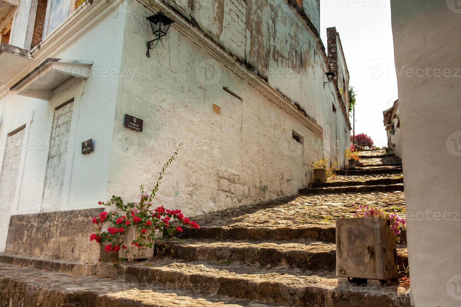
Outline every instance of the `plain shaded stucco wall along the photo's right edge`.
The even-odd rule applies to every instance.
[[[410,291],[415,307],[461,304],[461,10],[392,0]]]

